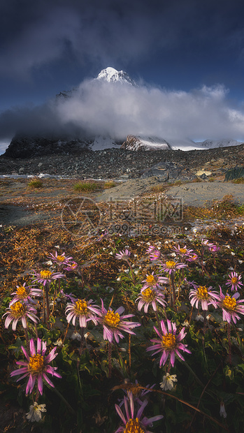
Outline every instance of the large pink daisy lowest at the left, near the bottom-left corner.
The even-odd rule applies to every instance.
[[[22,374],[22,376],[17,379],[18,381],[21,381],[21,379],[24,379],[24,377],[29,376],[28,382],[27,382],[27,388],[25,390],[26,394],[28,392],[31,394],[35,382],[37,381],[37,386],[40,394],[43,394],[43,379],[48,383],[48,385],[52,386],[54,388],[52,381],[47,376],[48,374],[52,374],[52,376],[59,377],[62,379],[62,376],[60,374],[56,373],[55,370],[57,370],[57,367],[52,367],[51,365],[48,365],[49,362],[54,360],[57,356],[56,347],[50,351],[48,356],[45,356],[45,352],[47,350],[46,342],[41,342],[41,339],[37,339],[37,350],[35,348],[34,339],[31,339],[29,342],[29,353],[28,355],[27,351],[23,346],[21,346],[22,352],[24,353],[25,358],[27,358],[27,361],[17,361],[17,365],[23,365],[24,367],[21,367],[17,370],[14,370],[10,373],[10,376],[18,376],[19,374]]]

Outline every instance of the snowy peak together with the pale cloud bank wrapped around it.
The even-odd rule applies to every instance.
[[[244,138],[244,112],[222,85],[168,91],[136,85],[127,73],[106,68],[43,105],[15,107],[0,115],[0,140],[14,135],[84,138],[153,135],[167,140]]]

